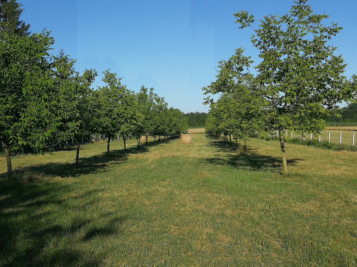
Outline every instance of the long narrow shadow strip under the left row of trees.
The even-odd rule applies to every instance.
[[[106,156],[106,151],[99,155],[94,155],[86,158],[79,158],[79,164],[75,163],[56,163],[49,162],[46,164],[37,164],[26,166],[24,168],[15,169],[15,175],[18,177],[24,176],[26,174],[43,174],[44,176],[55,176],[55,177],[76,177],[82,174],[94,173],[98,170],[103,170],[106,166],[110,164],[120,164],[128,159],[130,154],[140,154],[145,153],[150,150],[150,147],[157,146],[164,143],[169,143],[173,139],[161,139],[161,141],[144,143],[138,146],[132,146],[127,148],[126,152],[124,149],[111,150],[110,155]],[[81,148],[82,150],[82,148]],[[8,174],[1,173],[1,178],[6,178]],[[8,178],[8,179],[11,179]]]

